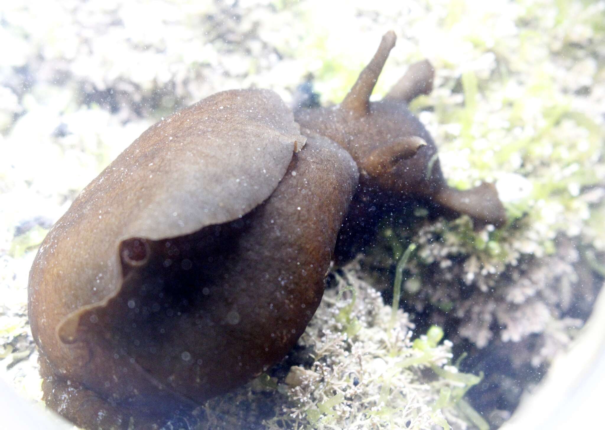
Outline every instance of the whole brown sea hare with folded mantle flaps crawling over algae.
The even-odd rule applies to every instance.
[[[87,429],[157,429],[281,360],[321,301],[352,199],[504,222],[491,184],[446,185],[407,109],[432,89],[427,61],[370,102],[395,39],[338,106],[223,91],[152,125],[82,191],[30,273],[51,409]]]

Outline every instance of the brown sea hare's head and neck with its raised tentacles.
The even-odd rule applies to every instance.
[[[468,191],[449,187],[433,139],[407,108],[411,100],[433,88],[434,70],[427,60],[411,65],[384,99],[370,102],[395,40],[393,31],[382,37],[378,51],[340,105],[297,109],[296,122],[352,155],[360,173],[354,205],[363,205],[360,200],[368,198],[425,198],[478,223],[502,226],[506,213],[495,187],[488,183]],[[358,211],[353,216],[359,216]]]

